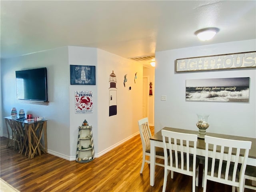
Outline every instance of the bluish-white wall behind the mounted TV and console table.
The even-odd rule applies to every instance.
[[[15,71],[28,68],[47,68],[48,106],[19,102],[16,99]],[[68,49],[56,48],[16,58],[1,59],[2,117],[10,116],[12,107],[26,114],[43,116],[47,121],[48,152],[70,156]],[[1,121],[3,135],[6,126]]]

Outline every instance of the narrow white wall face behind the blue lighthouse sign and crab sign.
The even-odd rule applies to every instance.
[[[92,126],[94,139],[94,150],[98,152],[98,64],[97,49],[86,47],[68,46],[68,63],[69,65],[90,65],[96,69],[96,85],[70,85],[69,82],[69,116],[70,116],[70,154],[72,160],[76,156],[76,146],[78,140],[78,126],[86,119]],[[70,80],[70,76],[67,77]],[[92,91],[93,94],[93,113],[76,114],[75,113],[75,91]]]

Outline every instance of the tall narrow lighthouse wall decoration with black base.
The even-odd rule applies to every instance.
[[[114,74],[114,71],[112,71],[112,74],[109,76],[109,116],[116,115],[117,114],[117,106],[116,106],[116,75]]]

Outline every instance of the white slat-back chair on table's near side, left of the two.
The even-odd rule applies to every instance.
[[[192,191],[198,186],[198,167],[200,159],[196,157],[196,134],[186,134],[162,130],[164,143],[164,184],[170,171],[192,176]],[[168,157],[168,154],[169,157]],[[171,174],[173,178],[173,173]]]

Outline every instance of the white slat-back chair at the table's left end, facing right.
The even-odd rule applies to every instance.
[[[143,118],[141,120],[138,120],[138,126],[139,126],[139,130],[140,130],[140,138],[141,138],[141,142],[142,142],[142,152],[143,152],[142,165],[141,165],[141,169],[140,169],[140,173],[142,173],[145,162],[150,164],[150,140],[149,140],[149,138],[152,136],[152,134],[150,132],[147,117]],[[146,156],[148,158],[146,158]],[[163,148],[156,147],[156,158],[164,159],[164,149]],[[164,164],[161,164],[161,163],[155,162],[155,165],[164,167]]]

